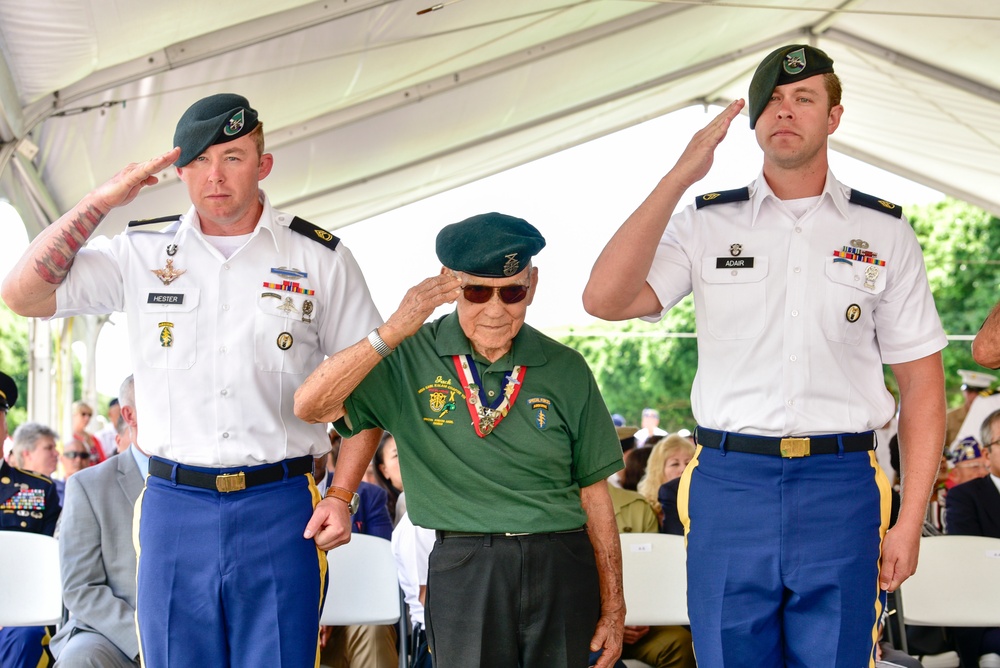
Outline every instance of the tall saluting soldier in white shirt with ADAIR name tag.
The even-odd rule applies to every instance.
[[[916,568],[944,437],[946,340],[899,207],[829,171],[843,113],[833,61],[777,49],[749,98],[760,176],[671,217],[708,173],[737,100],[614,235],[584,303],[609,320],[655,320],[694,293],[700,427],[678,505],[698,665],[872,665],[885,591]],[[883,364],[899,382],[904,449],[888,533],[873,452],[894,411]]]

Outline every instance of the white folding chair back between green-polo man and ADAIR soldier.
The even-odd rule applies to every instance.
[[[623,533],[622,586],[629,626],[684,626],[687,614],[687,551],[684,537]],[[630,668],[645,663],[626,659]]]

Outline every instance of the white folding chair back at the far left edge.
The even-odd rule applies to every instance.
[[[49,626],[63,616],[59,543],[51,536],[0,531],[0,626]]]

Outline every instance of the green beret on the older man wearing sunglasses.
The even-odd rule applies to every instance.
[[[545,239],[528,221],[502,213],[481,213],[438,233],[441,264],[483,278],[504,278],[524,271],[545,248]]]

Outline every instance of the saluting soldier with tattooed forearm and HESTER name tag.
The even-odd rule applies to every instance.
[[[323,425],[295,417],[293,393],[381,319],[350,251],[271,208],[263,143],[244,97],[199,100],[177,124],[177,148],[84,197],[3,285],[21,315],[128,315],[152,455],[137,509],[147,667],[316,663],[326,555],[303,531],[314,506],[339,502],[320,502],[307,475],[330,443]],[[171,163],[186,214],[81,248]]]

